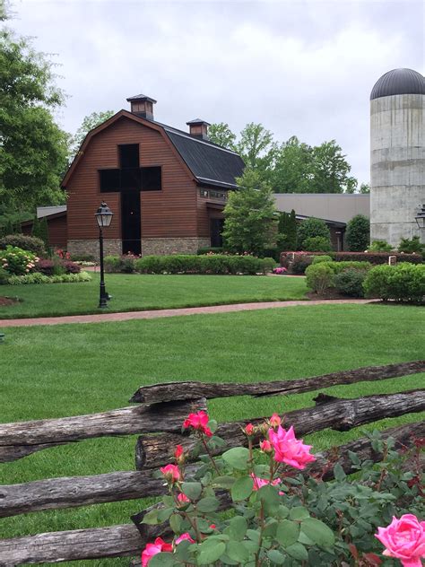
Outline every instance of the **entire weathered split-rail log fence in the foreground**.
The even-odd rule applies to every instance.
[[[205,408],[208,398],[288,395],[337,384],[390,379],[420,372],[425,372],[425,361],[335,372],[311,379],[256,384],[175,382],[139,388],[130,401],[140,402],[143,406],[63,419],[0,424],[0,462],[95,437],[142,434],[135,450],[137,470],[0,485],[0,518],[39,510],[160,495],[164,492],[164,485],[160,479],[152,477],[152,469],[168,462],[177,443],[188,448],[191,446],[192,441],[181,432],[181,424],[188,413]],[[315,407],[285,414],[285,423],[292,424],[297,434],[306,435],[325,428],[347,431],[385,417],[425,411],[425,390],[356,399],[320,394],[315,401]],[[218,434],[228,443],[221,450],[246,442],[241,432],[244,423],[247,422],[221,423]],[[385,435],[395,437],[400,447],[409,447],[413,439],[425,436],[425,423],[397,427],[388,430]],[[346,472],[351,472],[351,461],[347,458],[349,450],[359,453],[361,458],[374,461],[381,458],[372,449],[369,439],[361,438],[341,446],[337,452],[332,449],[317,455],[317,461],[306,469],[306,474],[317,474],[328,458],[333,458],[335,462],[337,460]],[[195,469],[196,464],[189,467]],[[326,473],[325,480],[330,478],[332,470]],[[167,528],[146,526],[143,529],[141,535],[133,524],[126,524],[0,539],[0,565],[12,567],[22,563],[59,563],[134,555],[155,536],[166,535],[164,529]]]

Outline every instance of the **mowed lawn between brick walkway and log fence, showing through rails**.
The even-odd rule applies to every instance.
[[[306,305],[184,318],[5,328],[6,341],[0,345],[0,420],[89,414],[122,407],[128,405],[138,386],[159,381],[296,379],[372,364],[413,361],[425,355],[424,314],[421,308],[407,306]],[[325,391],[341,397],[390,393],[421,388],[424,378],[425,374],[421,374]],[[292,397],[225,398],[212,400],[209,411],[219,421],[270,415],[274,411],[282,414],[313,405],[315,396],[317,392]],[[368,429],[423,418],[424,414],[408,414]],[[364,429],[318,432],[306,441],[314,445],[314,452],[356,438]],[[0,482],[14,484],[53,476],[131,470],[135,439],[82,441],[40,451],[1,465]],[[0,519],[0,535],[127,523],[130,514],[149,502],[108,503]],[[68,564],[124,567],[128,560]]]

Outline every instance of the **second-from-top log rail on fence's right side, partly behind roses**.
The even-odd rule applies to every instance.
[[[296,435],[302,437],[308,433],[319,432],[328,427],[346,432],[364,423],[376,422],[384,417],[397,417],[425,411],[425,390],[412,390],[397,394],[339,399],[319,395],[317,406],[299,409],[285,414],[285,427],[293,425]],[[227,449],[246,445],[247,438],[242,429],[247,423],[262,423],[264,418],[243,422],[219,424],[217,435],[227,442]],[[257,441],[257,440],[256,440]],[[157,433],[149,437],[140,437],[136,443],[136,468],[159,467],[172,458],[176,445],[193,449],[192,438],[177,433]],[[219,454],[217,450],[216,454]]]

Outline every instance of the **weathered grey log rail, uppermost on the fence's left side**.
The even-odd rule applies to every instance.
[[[110,412],[32,422],[0,423],[0,463],[57,444],[93,437],[142,432],[179,432],[190,412],[205,409],[204,399],[163,406],[123,407]]]

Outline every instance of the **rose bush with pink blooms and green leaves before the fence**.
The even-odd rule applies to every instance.
[[[292,427],[285,430],[277,414],[264,423],[248,423],[247,447],[229,449],[221,458],[212,456],[225,443],[216,428],[204,411],[189,414],[183,423],[195,438],[201,467],[187,468],[188,454],[178,445],[175,462],[160,468],[169,494],[142,523],[166,522],[174,536],[148,543],[143,567],[376,567],[384,556],[404,567],[421,567],[425,522],[417,515],[425,510],[419,441],[413,455],[402,455],[394,440],[384,442],[374,432],[372,446],[384,460],[374,466],[349,454],[359,471],[353,482],[332,462],[321,473],[304,476],[300,471],[316,460],[312,447],[297,439]],[[324,482],[332,469],[334,481]],[[226,505],[234,514],[219,513]]]

